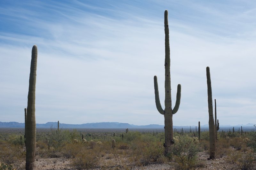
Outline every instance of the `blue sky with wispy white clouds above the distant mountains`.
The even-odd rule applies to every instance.
[[[173,125],[208,123],[206,66],[220,125],[256,123],[254,1],[0,1],[0,121],[24,122],[38,48],[36,122],[164,124],[164,10]]]

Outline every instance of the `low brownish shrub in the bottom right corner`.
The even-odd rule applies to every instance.
[[[253,152],[233,151],[228,155],[229,163],[241,170],[255,169],[255,160]]]

